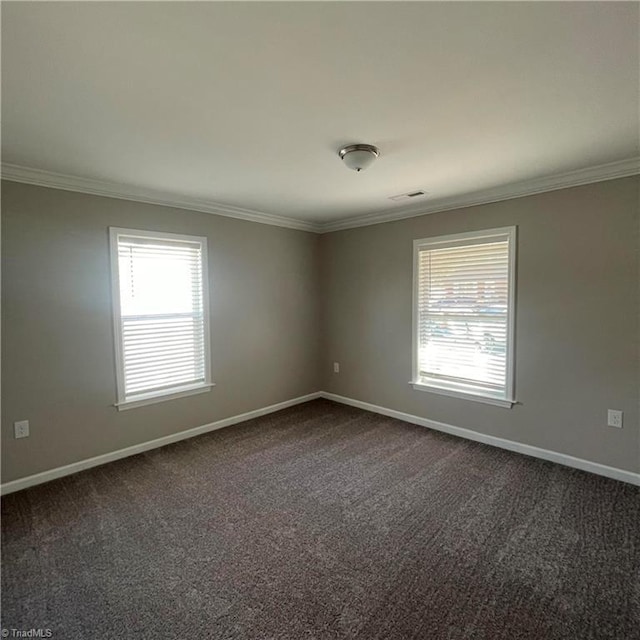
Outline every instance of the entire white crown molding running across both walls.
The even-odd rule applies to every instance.
[[[80,178],[78,176],[43,171],[41,169],[31,169],[15,164],[2,164],[2,179],[12,182],[23,182],[25,184],[62,189],[65,191],[77,191],[107,198],[133,200],[134,202],[157,204],[164,207],[175,207],[177,209],[210,213],[260,224],[269,224],[300,231],[312,231],[315,233],[331,233],[332,231],[341,231],[343,229],[354,229],[372,224],[393,222],[394,220],[415,218],[430,213],[439,213],[452,209],[462,209],[464,207],[474,207],[491,202],[522,198],[547,191],[578,187],[594,182],[625,178],[637,174],[640,174],[640,157],[610,162],[608,164],[601,164],[595,167],[569,171],[553,176],[535,178],[533,180],[512,183],[483,191],[451,196],[450,198],[442,198],[440,200],[434,200],[433,202],[427,201],[418,206],[387,209],[361,216],[335,220],[333,222],[316,223],[277,216],[264,211],[243,209],[241,207],[234,207],[209,200],[199,200],[197,198],[171,194],[155,189],[116,184],[92,178]]]

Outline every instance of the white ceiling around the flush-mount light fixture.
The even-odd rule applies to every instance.
[[[333,223],[634,158],[639,7],[3,2],[2,160]]]

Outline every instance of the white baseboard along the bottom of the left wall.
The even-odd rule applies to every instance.
[[[216,429],[222,429],[224,427],[230,427],[233,424],[239,422],[245,422],[246,420],[252,420],[253,418],[259,418],[260,416],[273,413],[274,411],[280,411],[287,407],[292,407],[296,404],[302,404],[309,400],[315,400],[320,397],[320,392],[309,393],[306,396],[300,396],[299,398],[293,398],[291,400],[285,400],[284,402],[278,402],[268,407],[262,407],[261,409],[254,409],[247,413],[241,413],[237,416],[231,416],[230,418],[224,418],[223,420],[217,420],[216,422],[210,422],[200,427],[194,427],[193,429],[187,429],[186,431],[180,431],[179,433],[173,433],[170,436],[164,436],[162,438],[156,438],[155,440],[149,440],[141,444],[133,445],[132,447],[126,447],[125,449],[119,449],[111,453],[105,453],[101,456],[95,456],[94,458],[87,458],[86,460],[80,460],[79,462],[73,462],[67,464],[64,467],[57,467],[50,469],[49,471],[43,471],[42,473],[36,473],[26,478],[19,478],[18,480],[12,480],[6,482],[0,486],[0,495],[6,495],[13,493],[14,491],[20,491],[27,487],[33,487],[43,482],[49,482],[49,480],[55,480],[56,478],[62,478],[63,476],[69,476],[72,473],[83,471],[84,469],[90,469],[91,467],[97,467],[107,462],[113,462],[114,460],[120,460],[121,458],[128,458],[134,456],[137,453],[143,453],[151,449],[157,449],[158,447],[164,447],[167,444],[173,442],[179,442],[180,440],[186,440],[193,438],[194,436],[208,433],[209,431],[215,431]]]

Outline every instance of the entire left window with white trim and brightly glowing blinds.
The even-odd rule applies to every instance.
[[[110,230],[119,409],[207,391],[207,239]]]

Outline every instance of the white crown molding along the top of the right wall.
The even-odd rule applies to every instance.
[[[464,207],[474,207],[480,204],[522,198],[547,191],[567,189],[569,187],[579,187],[594,182],[605,180],[615,180],[616,178],[626,178],[640,174],[640,157],[629,158],[618,162],[610,162],[595,167],[569,171],[567,173],[554,176],[545,176],[523,182],[512,183],[501,187],[475,191],[468,194],[442,198],[431,203],[423,202],[420,206],[403,207],[398,209],[387,209],[376,213],[369,213],[362,216],[354,216],[334,222],[325,222],[320,225],[320,233],[330,233],[343,229],[354,229],[383,222],[393,222],[405,218],[415,218],[430,213],[450,211],[452,209],[462,209]]]

